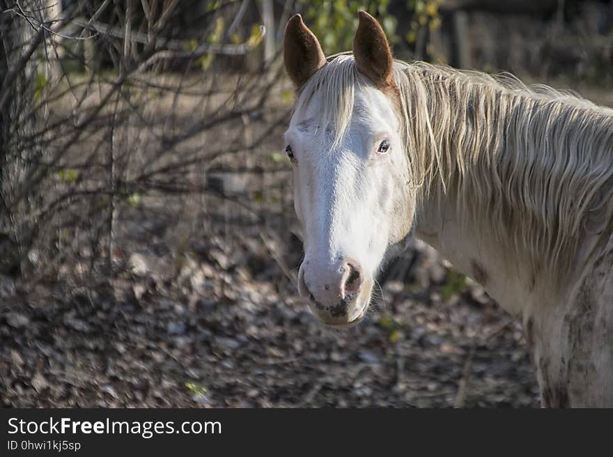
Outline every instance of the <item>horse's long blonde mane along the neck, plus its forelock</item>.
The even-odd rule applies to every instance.
[[[427,63],[395,61],[394,81],[418,199],[455,199],[465,229],[488,235],[518,270],[564,281],[582,237],[610,229],[613,110],[510,75]],[[319,124],[338,144],[361,84],[370,83],[352,56],[334,56],[295,111],[323,91]]]

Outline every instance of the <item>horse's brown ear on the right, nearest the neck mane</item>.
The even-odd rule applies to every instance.
[[[353,56],[357,70],[366,75],[379,88],[391,86],[391,47],[379,22],[359,11],[359,25],[353,38]]]

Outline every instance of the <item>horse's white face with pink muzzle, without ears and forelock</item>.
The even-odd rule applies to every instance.
[[[372,84],[354,92],[341,141],[318,125],[323,93],[294,114],[285,134],[304,233],[298,288],[328,325],[364,316],[385,254],[406,238],[414,215],[394,100]]]

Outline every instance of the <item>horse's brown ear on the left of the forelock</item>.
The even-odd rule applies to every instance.
[[[285,28],[284,60],[296,88],[301,88],[326,63],[319,41],[299,14],[293,15]]]

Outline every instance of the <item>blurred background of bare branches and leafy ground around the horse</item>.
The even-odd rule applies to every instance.
[[[0,0],[0,406],[538,406],[520,325],[416,241],[322,327],[284,27],[613,106],[613,2]]]

